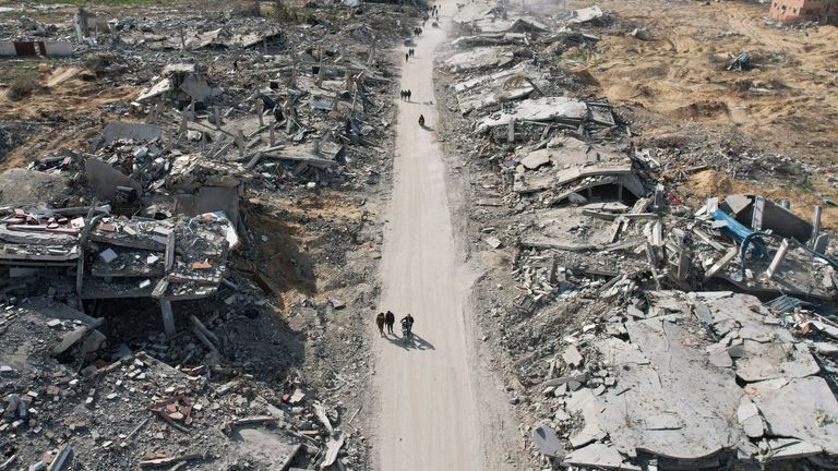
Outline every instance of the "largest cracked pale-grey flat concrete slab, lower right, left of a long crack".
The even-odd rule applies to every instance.
[[[738,443],[741,432],[730,428],[728,418],[739,407],[741,389],[729,372],[707,365],[704,354],[690,347],[694,335],[675,324],[674,318],[663,316],[625,324],[632,343],[650,364],[638,365],[630,361],[632,358],[614,357],[620,386],[600,397],[604,410],[598,418],[599,426],[604,427],[622,452],[644,450],[695,460]],[[613,343],[611,340],[597,347],[607,353]],[[673,390],[680,392],[672,395]],[[698,414],[696,407],[701,407]],[[678,428],[638,430],[631,425],[649,420],[654,425],[659,422],[655,418],[663,411],[672,415],[666,423],[678,424]]]

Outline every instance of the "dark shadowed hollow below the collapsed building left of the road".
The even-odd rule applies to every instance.
[[[234,295],[235,302],[225,302]],[[86,311],[105,319],[98,328],[107,337],[107,350],[99,352],[104,360],[142,350],[172,366],[196,367],[214,363],[208,341],[219,354],[219,364],[213,367],[216,379],[248,373],[260,381],[285,383],[304,360],[301,334],[270,304],[254,301],[258,298],[222,289],[218,298],[173,302],[177,334],[171,338],[163,333],[159,304],[152,298],[98,300]],[[208,331],[204,339],[196,324]]]

